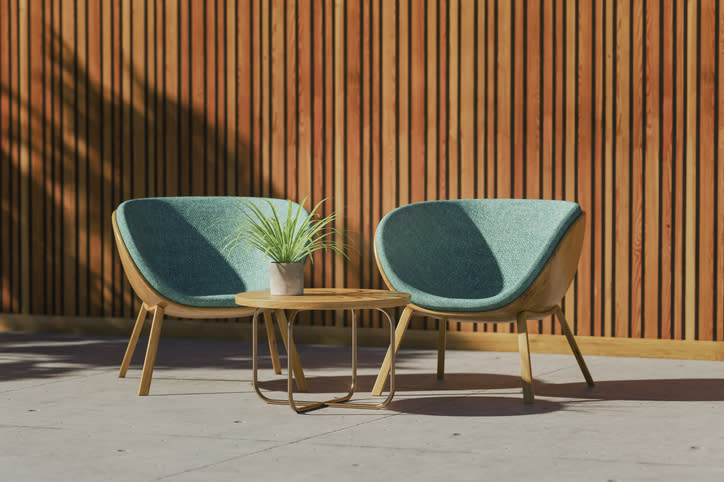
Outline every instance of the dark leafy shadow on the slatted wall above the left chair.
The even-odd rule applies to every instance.
[[[248,195],[249,145],[125,56],[102,80],[58,32],[43,52],[31,95],[16,70],[0,85],[0,311],[133,316],[113,209],[135,197]]]

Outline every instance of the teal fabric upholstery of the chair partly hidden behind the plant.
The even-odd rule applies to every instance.
[[[224,249],[242,220],[242,200],[271,215],[264,198],[166,197],[125,201],[116,221],[131,258],[161,295],[188,306],[236,306],[236,293],[269,288],[270,259],[254,248]],[[269,200],[286,219],[288,201]]]

